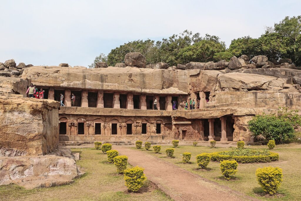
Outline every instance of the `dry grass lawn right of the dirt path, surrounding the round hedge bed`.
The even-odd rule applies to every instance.
[[[217,145],[218,146],[218,145]],[[151,155],[159,157],[167,162],[178,165],[188,171],[195,174],[199,174],[201,177],[207,178],[211,181],[215,181],[219,184],[228,186],[234,190],[243,192],[249,196],[256,197],[261,200],[301,200],[301,144],[286,144],[276,145],[272,152],[279,154],[279,161],[270,163],[249,163],[238,164],[237,174],[231,176],[231,180],[227,181],[222,176],[219,169],[219,162],[210,162],[206,170],[200,169],[196,163],[196,155],[202,152],[220,152],[229,150],[229,148],[210,148],[206,146],[178,146],[174,152],[174,158],[166,156],[165,150],[172,146],[161,146],[160,153],[154,153],[153,149],[146,151],[144,148],[139,149],[147,152]],[[267,146],[246,146],[247,148],[267,148]],[[136,149],[136,148],[132,148]],[[191,152],[191,163],[182,163],[182,153]],[[276,197],[265,196],[261,187],[256,181],[255,171],[257,168],[273,166],[283,169],[283,183],[278,190]]]

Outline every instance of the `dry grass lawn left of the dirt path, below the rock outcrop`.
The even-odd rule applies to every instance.
[[[149,182],[138,191],[129,193],[124,185],[123,175],[116,172],[115,165],[107,162],[107,155],[92,148],[72,149],[80,152],[81,160],[77,165],[86,172],[73,184],[44,189],[26,190],[17,185],[0,186],[0,200],[171,200],[160,190],[154,189]]]

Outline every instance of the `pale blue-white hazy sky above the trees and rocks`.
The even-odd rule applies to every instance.
[[[301,15],[299,0],[0,0],[0,62],[88,66],[100,53],[184,30],[231,40]]]

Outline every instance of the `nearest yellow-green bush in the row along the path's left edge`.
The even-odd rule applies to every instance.
[[[123,171],[126,187],[128,187],[129,190],[136,192],[142,187],[144,181],[146,181],[143,170],[143,168],[136,166]]]

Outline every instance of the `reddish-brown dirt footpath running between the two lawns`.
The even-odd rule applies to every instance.
[[[127,155],[131,165],[143,167],[148,180],[154,182],[174,200],[258,200],[208,181],[143,151],[122,146],[114,146],[114,149],[119,151],[119,155]]]

